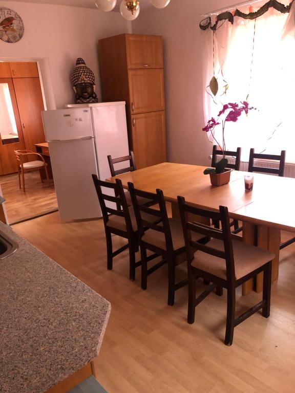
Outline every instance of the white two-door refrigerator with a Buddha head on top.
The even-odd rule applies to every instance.
[[[125,102],[68,105],[42,116],[60,219],[100,217],[91,174],[105,180],[107,156],[129,155]]]

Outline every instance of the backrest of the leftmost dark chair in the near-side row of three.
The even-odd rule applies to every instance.
[[[119,217],[124,217],[127,232],[131,233],[133,229],[131,224],[130,211],[126,202],[121,180],[116,179],[116,183],[103,182],[102,180],[98,179],[96,174],[92,174],[92,179],[97,192],[104,225],[107,225],[109,221],[109,214],[114,214]],[[112,195],[105,194],[101,187],[106,187],[108,189],[114,190],[116,196],[113,197]],[[106,201],[114,202],[116,204],[116,208],[113,209],[111,207],[108,207],[106,205]]]

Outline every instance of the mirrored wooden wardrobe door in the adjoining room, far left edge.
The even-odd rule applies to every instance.
[[[14,150],[25,149],[25,143],[22,126],[20,125],[12,79],[0,78],[0,86],[2,83],[6,84],[6,86],[8,85],[9,92],[6,92],[6,94],[10,96],[11,101],[9,100],[9,97],[5,97],[5,95],[0,93],[0,174],[8,174],[17,171],[17,161],[15,158]],[[3,98],[4,102],[2,102]],[[7,100],[9,100],[9,102],[7,102]],[[10,105],[12,105],[12,107]],[[11,116],[13,117],[13,115],[18,137],[15,138],[15,142],[10,143],[12,139],[5,138],[6,134],[9,134],[9,131],[7,131],[5,127],[7,127],[8,124],[12,124],[10,122]],[[9,137],[9,135],[7,135],[7,137]]]

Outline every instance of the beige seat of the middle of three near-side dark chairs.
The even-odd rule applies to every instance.
[[[171,230],[173,249],[174,251],[176,251],[185,246],[181,221],[177,219],[168,219],[168,221]],[[204,236],[200,235],[199,233],[192,233],[192,238],[195,242],[197,242],[203,237]],[[148,229],[144,232],[141,240],[145,243],[152,244],[153,246],[156,246],[162,250],[166,250],[164,233],[155,231],[153,229]]]

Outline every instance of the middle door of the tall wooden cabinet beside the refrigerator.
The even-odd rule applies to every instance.
[[[129,70],[130,111],[157,112],[165,109],[163,69]]]

